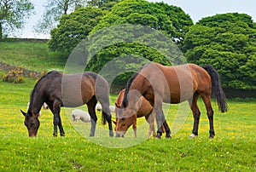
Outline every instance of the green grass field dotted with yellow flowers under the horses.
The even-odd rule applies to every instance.
[[[20,47],[24,47],[24,52]],[[26,54],[27,49],[32,49],[32,54]],[[45,43],[0,43],[0,53],[4,62],[42,72],[61,69],[65,64],[60,54],[49,52]],[[0,72],[1,78],[4,73]],[[109,138],[107,125],[103,126],[100,120],[96,137],[90,138],[90,123],[72,122],[68,108],[61,109],[66,137],[52,136],[53,115],[42,110],[38,136],[29,138],[20,109],[26,111],[35,83],[32,78],[17,84],[0,79],[0,171],[256,171],[255,101],[228,100],[229,111],[220,113],[213,100],[213,140],[208,139],[209,125],[201,100],[199,136],[192,140],[191,112],[169,140],[148,139],[148,124],[143,118],[138,119],[137,138],[131,128],[125,138]],[[110,98],[113,104],[116,95]],[[178,108],[179,105],[165,106],[170,126]],[[100,113],[97,115],[100,118]]]

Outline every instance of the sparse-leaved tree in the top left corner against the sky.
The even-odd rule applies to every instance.
[[[29,0],[0,0],[0,41],[3,33],[22,28],[33,9],[34,5]]]

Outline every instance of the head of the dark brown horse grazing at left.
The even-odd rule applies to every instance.
[[[31,111],[27,110],[27,112],[23,112],[20,110],[22,114],[25,117],[24,124],[26,125],[26,128],[28,130],[28,135],[30,137],[37,136],[38,134],[38,128],[40,125],[40,122],[38,120],[38,114],[32,114]]]

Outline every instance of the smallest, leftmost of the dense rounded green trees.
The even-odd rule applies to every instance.
[[[49,48],[54,51],[70,53],[96,26],[106,11],[87,6],[61,17],[60,24],[51,30]]]

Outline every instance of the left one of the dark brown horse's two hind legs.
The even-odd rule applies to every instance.
[[[96,130],[96,122],[97,122],[97,117],[96,117],[96,112],[95,112],[95,107],[96,107],[96,97],[93,96],[90,101],[87,103],[88,107],[88,112],[90,114],[90,137],[93,137],[95,135],[95,130]]]

